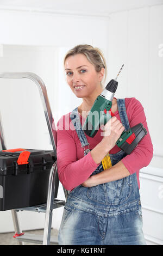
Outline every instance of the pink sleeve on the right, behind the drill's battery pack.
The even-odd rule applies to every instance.
[[[126,104],[128,104],[126,109],[130,127],[142,123],[147,130],[147,135],[137,145],[133,152],[121,160],[124,166],[129,170],[130,174],[133,174],[141,168],[148,166],[151,162],[153,157],[153,145],[147,127],[145,112],[141,103],[133,97],[128,103],[126,102]]]

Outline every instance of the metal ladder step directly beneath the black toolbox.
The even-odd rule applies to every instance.
[[[53,209],[59,208],[65,205],[65,200],[54,199]],[[29,206],[24,208],[14,209],[16,211],[35,211],[35,212],[46,212],[46,204],[40,204],[35,206]]]

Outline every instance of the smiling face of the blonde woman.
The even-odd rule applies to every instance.
[[[67,83],[77,97],[91,96],[93,92],[101,93],[104,69],[96,72],[95,66],[84,54],[70,56],[65,61]]]

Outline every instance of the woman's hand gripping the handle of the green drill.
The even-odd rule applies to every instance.
[[[112,117],[109,121],[101,126],[103,131],[101,135],[103,136],[101,143],[106,149],[114,148],[118,138],[120,138],[122,132],[124,131],[124,126],[116,117]],[[109,151],[108,150],[108,151]]]

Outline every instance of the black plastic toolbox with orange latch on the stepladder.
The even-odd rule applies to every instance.
[[[49,173],[56,160],[53,150],[0,151],[0,211],[46,203]],[[54,198],[58,186],[57,174]]]

